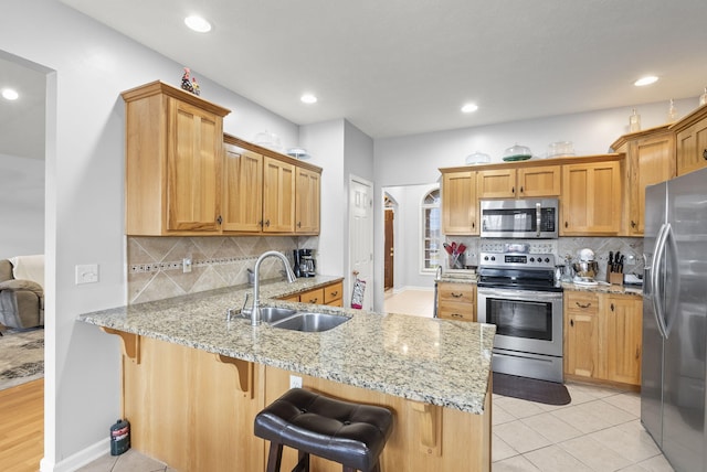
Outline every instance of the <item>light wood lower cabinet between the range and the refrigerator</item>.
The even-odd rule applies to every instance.
[[[642,329],[640,297],[566,291],[566,376],[640,386]]]

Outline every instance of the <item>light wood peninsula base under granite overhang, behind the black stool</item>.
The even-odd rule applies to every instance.
[[[119,333],[116,333],[119,334]],[[253,433],[255,415],[289,388],[379,405],[393,411],[393,431],[381,454],[384,471],[490,471],[490,382],[485,414],[472,415],[352,387],[276,367],[127,334],[139,354],[123,357],[123,418],[131,447],[180,471],[263,471],[270,443]],[[336,348],[336,346],[331,346]],[[283,453],[292,470],[297,454]],[[312,470],[340,464],[312,458]]]

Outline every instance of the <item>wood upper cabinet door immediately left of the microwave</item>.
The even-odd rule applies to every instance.
[[[476,172],[446,172],[442,179],[442,229],[446,235],[477,235]]]

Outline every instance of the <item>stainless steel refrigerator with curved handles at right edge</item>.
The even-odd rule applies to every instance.
[[[645,192],[641,420],[676,471],[707,471],[707,169]]]

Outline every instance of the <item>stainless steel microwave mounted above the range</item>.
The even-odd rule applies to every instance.
[[[555,239],[558,237],[557,199],[482,200],[481,236]]]

